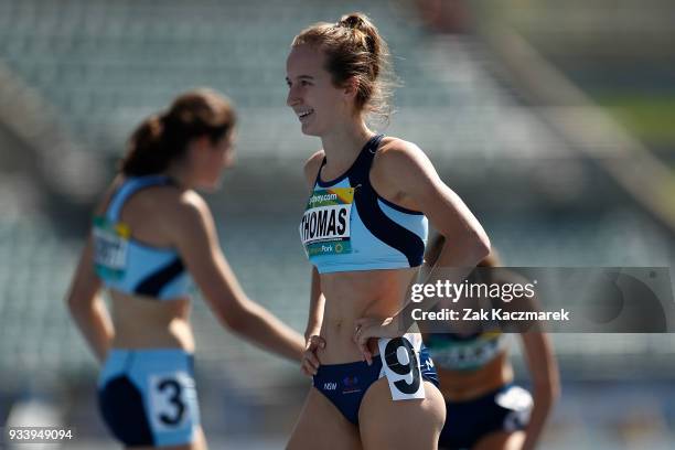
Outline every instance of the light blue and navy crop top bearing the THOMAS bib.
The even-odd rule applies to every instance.
[[[300,237],[319,274],[399,269],[422,264],[427,217],[381,197],[369,181],[373,158],[384,136],[366,142],[356,161],[330,182],[317,174]]]

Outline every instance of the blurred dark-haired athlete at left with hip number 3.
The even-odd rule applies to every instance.
[[[225,97],[211,89],[179,96],[133,132],[96,207],[67,303],[104,363],[105,422],[127,447],[206,448],[193,372],[193,280],[229,330],[291,360],[304,350],[298,333],[246,297],[195,192],[218,186],[233,163],[234,138]]]

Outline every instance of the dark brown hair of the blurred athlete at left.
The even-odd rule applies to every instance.
[[[215,143],[235,126],[229,99],[213,89],[181,94],[165,113],[150,116],[131,135],[120,172],[127,176],[161,173],[184,157],[191,140]]]

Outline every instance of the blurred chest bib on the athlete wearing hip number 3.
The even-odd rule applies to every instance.
[[[131,232],[125,224],[113,224],[104,216],[94,218],[94,266],[96,272],[108,279],[125,275],[127,249]]]

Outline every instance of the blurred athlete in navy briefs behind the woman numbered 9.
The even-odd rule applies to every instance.
[[[429,243],[425,269],[437,265],[444,242],[438,235]],[[494,251],[478,265],[500,266]],[[504,269],[479,269],[467,280],[489,286],[523,282],[522,277]],[[531,300],[526,301],[529,303],[518,300],[517,308],[536,308]],[[499,323],[493,325],[468,333],[424,336],[446,399],[441,449],[532,450],[559,395],[558,367],[548,336],[536,330],[519,334],[532,377],[533,403],[533,396],[513,383],[507,334],[502,333]]]

